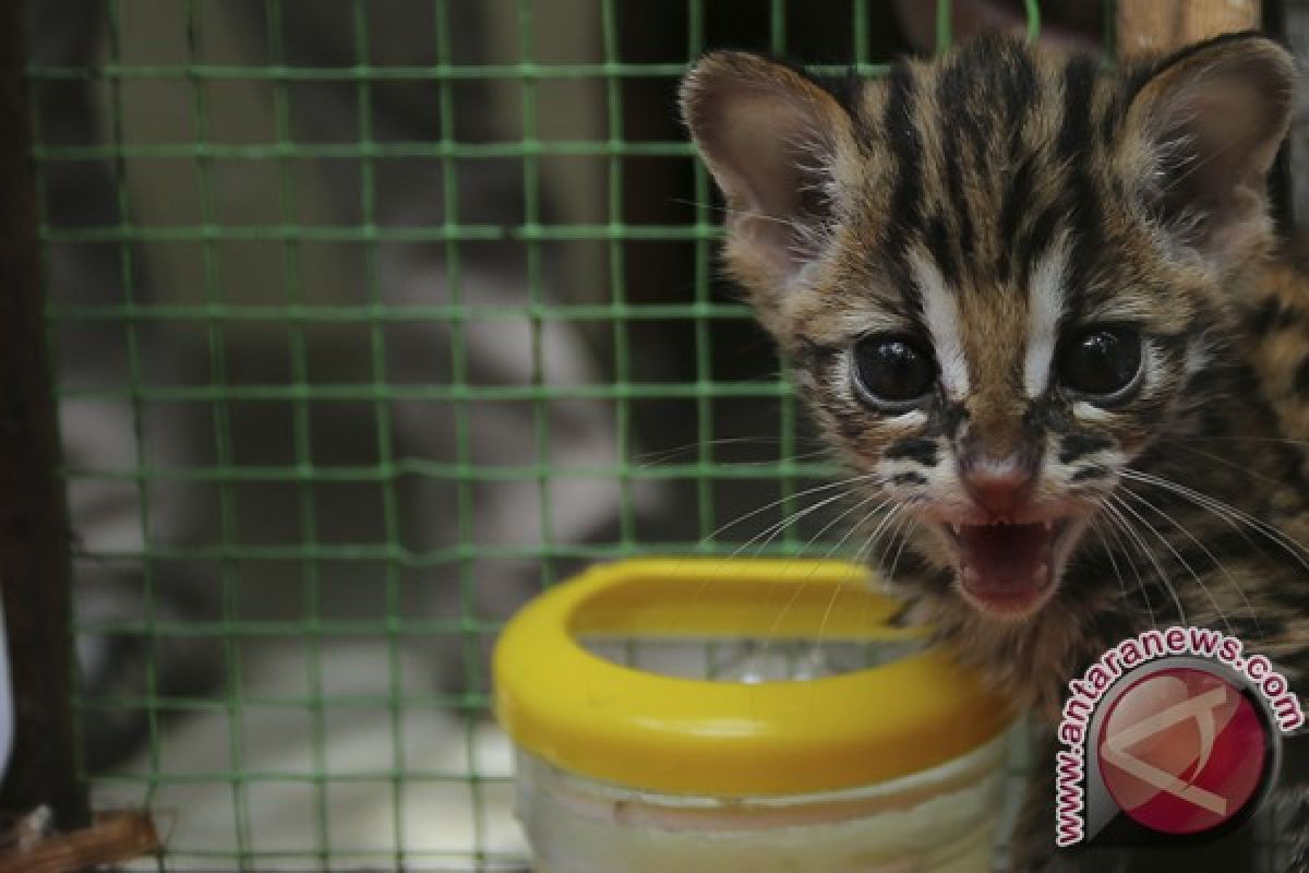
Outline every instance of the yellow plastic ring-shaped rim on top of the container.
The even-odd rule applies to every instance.
[[[496,715],[521,747],[590,779],[703,796],[870,785],[977,749],[1011,707],[944,652],[805,681],[683,679],[579,636],[903,641],[895,601],[840,561],[628,560],[524,607],[495,652]]]

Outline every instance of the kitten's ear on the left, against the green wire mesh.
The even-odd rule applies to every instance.
[[[682,118],[728,202],[728,260],[770,308],[827,242],[850,116],[801,73],[720,51],[682,80]]]

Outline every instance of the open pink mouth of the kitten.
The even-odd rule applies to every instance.
[[[1067,518],[946,525],[958,551],[965,597],[1005,618],[1035,611],[1052,589],[1056,544],[1067,529]]]

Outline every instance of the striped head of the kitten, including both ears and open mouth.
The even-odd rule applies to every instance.
[[[1037,613],[1185,427],[1268,247],[1293,80],[1254,34],[1127,71],[986,38],[839,97],[747,54],[687,75],[726,262],[946,597]]]

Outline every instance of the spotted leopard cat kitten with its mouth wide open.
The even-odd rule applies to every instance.
[[[885,572],[1047,726],[1152,626],[1309,687],[1309,281],[1264,195],[1293,90],[1258,34],[1126,68],[987,37],[835,89],[713,52],[683,81],[730,274],[902,520]]]

